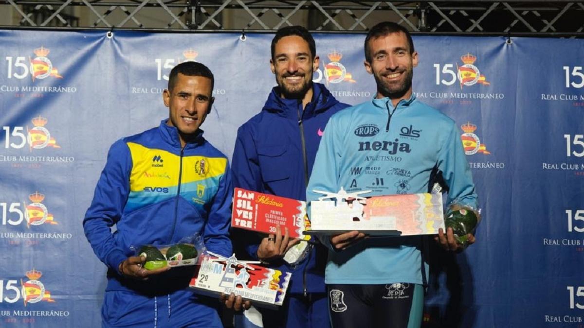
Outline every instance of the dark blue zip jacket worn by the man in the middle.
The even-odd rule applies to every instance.
[[[332,114],[349,107],[336,100],[324,85],[314,83],[312,88],[312,101],[303,110],[301,100],[283,99],[278,87],[274,87],[262,111],[239,127],[231,165],[235,187],[306,200],[307,178],[326,123]],[[258,246],[265,235],[247,231],[234,231],[234,235],[238,258],[257,259]],[[283,260],[271,264],[292,273],[288,287],[291,293],[325,292],[323,246],[316,245],[296,266]]]

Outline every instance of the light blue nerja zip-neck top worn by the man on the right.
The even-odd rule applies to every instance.
[[[340,187],[371,190],[363,194],[367,197],[428,193],[440,180],[449,190],[447,204],[456,200],[476,208],[460,135],[453,120],[415,95],[395,107],[385,97],[339,111],[326,125],[307,201],[322,196],[313,190],[337,192]],[[422,284],[427,274],[422,241],[419,236],[370,238],[342,251],[329,247],[326,283]]]

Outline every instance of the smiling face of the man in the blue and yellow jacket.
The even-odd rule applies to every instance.
[[[162,93],[164,105],[169,108],[166,124],[179,130],[181,146],[194,137],[210,112],[214,100],[211,92],[210,78],[179,73],[172,90]]]

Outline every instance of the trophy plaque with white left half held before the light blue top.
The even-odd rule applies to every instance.
[[[314,190],[324,194],[311,202],[311,227],[305,234],[337,233],[357,230],[369,235],[410,236],[434,235],[444,229],[442,194],[404,194],[374,196],[370,191],[338,193]]]

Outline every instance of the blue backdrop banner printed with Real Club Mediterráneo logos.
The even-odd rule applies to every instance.
[[[314,81],[373,98],[364,35],[314,36]],[[168,117],[168,74],[192,60],[215,75],[205,136],[231,156],[276,84],[272,37],[0,30],[0,326],[100,326],[82,219],[107,149]],[[584,41],[414,43],[414,92],[460,126],[483,215],[465,252],[433,247],[423,325],[584,327]]]

